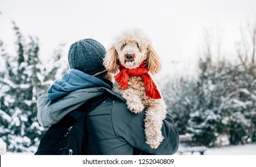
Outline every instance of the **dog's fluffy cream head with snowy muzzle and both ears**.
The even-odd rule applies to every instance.
[[[129,29],[123,31],[109,48],[104,65],[109,72],[115,73],[119,63],[127,69],[135,69],[144,61],[147,61],[148,69],[153,74],[161,68],[159,56],[147,35],[141,29]]]

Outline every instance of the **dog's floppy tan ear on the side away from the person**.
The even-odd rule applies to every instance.
[[[148,45],[148,48],[147,48],[147,64],[148,64],[148,69],[150,69],[150,72],[153,75],[158,73],[161,69],[161,62],[160,62],[159,55],[151,45]]]

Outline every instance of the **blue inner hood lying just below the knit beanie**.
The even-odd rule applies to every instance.
[[[51,101],[56,101],[78,89],[94,87],[105,87],[111,89],[112,85],[108,85],[103,82],[102,79],[87,75],[80,70],[72,69],[50,86],[47,91],[47,95]]]

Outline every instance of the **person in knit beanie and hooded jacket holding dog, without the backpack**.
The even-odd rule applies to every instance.
[[[57,123],[86,101],[102,94],[110,95],[92,112],[86,124],[89,154],[174,154],[178,149],[178,131],[167,113],[161,128],[164,140],[157,149],[145,143],[145,112],[135,114],[125,100],[112,91],[112,82],[103,66],[105,48],[94,39],[71,45],[68,61],[71,71],[54,82],[47,95],[38,98],[38,122],[42,126]]]

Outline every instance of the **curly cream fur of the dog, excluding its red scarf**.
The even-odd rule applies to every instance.
[[[127,54],[132,55],[132,58],[128,59]],[[119,63],[127,69],[135,69],[145,61],[151,75],[161,69],[159,55],[153,49],[150,39],[141,29],[135,28],[124,30],[121,33],[106,53],[104,65],[108,72],[115,74],[119,72]],[[139,76],[129,78],[126,90],[123,90],[117,82],[113,89],[126,99],[130,111],[141,113],[145,109],[146,143],[156,149],[163,140],[161,126],[166,116],[166,105],[163,99],[147,97],[144,82]]]

